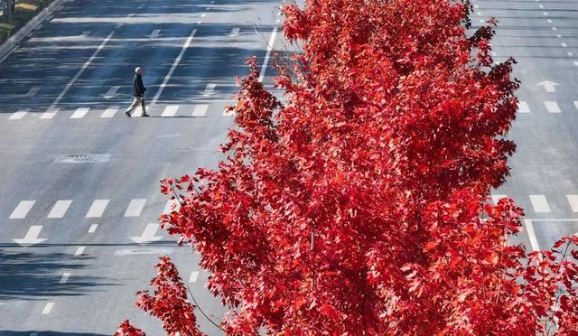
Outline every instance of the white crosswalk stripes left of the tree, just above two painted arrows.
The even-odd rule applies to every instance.
[[[110,204],[111,200],[108,199],[98,199],[93,200],[89,203],[89,206],[86,207],[86,215],[84,216],[87,219],[98,219],[102,218],[106,215],[107,208]],[[70,212],[70,208],[73,205],[74,200],[57,200],[51,203],[51,206],[48,208],[48,213],[46,214],[46,219],[64,219],[67,214]],[[123,217],[126,218],[135,218],[140,217],[143,214],[145,207],[150,203],[147,199],[133,199],[126,203],[126,210],[124,211]],[[14,210],[10,213],[8,219],[26,219],[31,212],[34,210],[40,210],[44,213],[44,209],[36,209],[39,208],[36,206],[37,201],[19,201]],[[163,205],[163,214],[170,213],[172,210],[178,208],[178,201],[169,200]],[[160,209],[159,209],[160,210]],[[161,213],[161,212],[159,212]]]

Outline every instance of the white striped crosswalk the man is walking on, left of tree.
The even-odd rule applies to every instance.
[[[213,88],[214,89],[214,88]],[[211,94],[211,90],[207,91],[208,95]],[[122,113],[122,109],[117,106],[110,106],[103,108],[93,108],[93,107],[79,107],[72,111],[63,111],[61,108],[52,108],[44,112],[36,113],[30,108],[19,109],[6,118],[8,121],[19,121],[27,119],[40,119],[40,120],[52,120],[59,117],[69,118],[69,119],[84,119],[84,118],[100,118],[109,119],[113,117],[126,117]],[[71,113],[70,113],[71,112]],[[191,105],[167,105],[167,106],[155,106],[149,107],[148,111],[150,115],[160,116],[160,117],[208,117],[214,112],[210,110],[209,104],[191,104]],[[225,111],[220,111],[215,114],[217,116],[230,117],[232,114]],[[135,109],[132,117],[142,117],[142,112],[140,107]]]

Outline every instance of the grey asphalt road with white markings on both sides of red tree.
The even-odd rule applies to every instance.
[[[71,0],[0,63],[1,335],[111,334],[126,318],[162,334],[132,304],[163,254],[219,320],[198,257],[155,227],[167,201],[157,182],[218,162],[233,77],[247,56],[265,61],[278,5]],[[475,24],[499,19],[496,60],[515,57],[523,81],[512,176],[494,194],[526,209],[515,241],[547,248],[578,232],[578,3],[476,5]],[[156,100],[150,118],[122,114],[135,66]]]

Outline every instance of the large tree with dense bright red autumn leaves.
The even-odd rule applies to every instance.
[[[200,252],[228,333],[576,331],[576,238],[526,263],[508,246],[522,210],[486,204],[515,149],[518,83],[513,60],[492,65],[489,26],[467,35],[470,10],[284,7],[304,51],[278,66],[288,103],[249,60],[227,161],[163,182],[184,192],[163,227]]]

